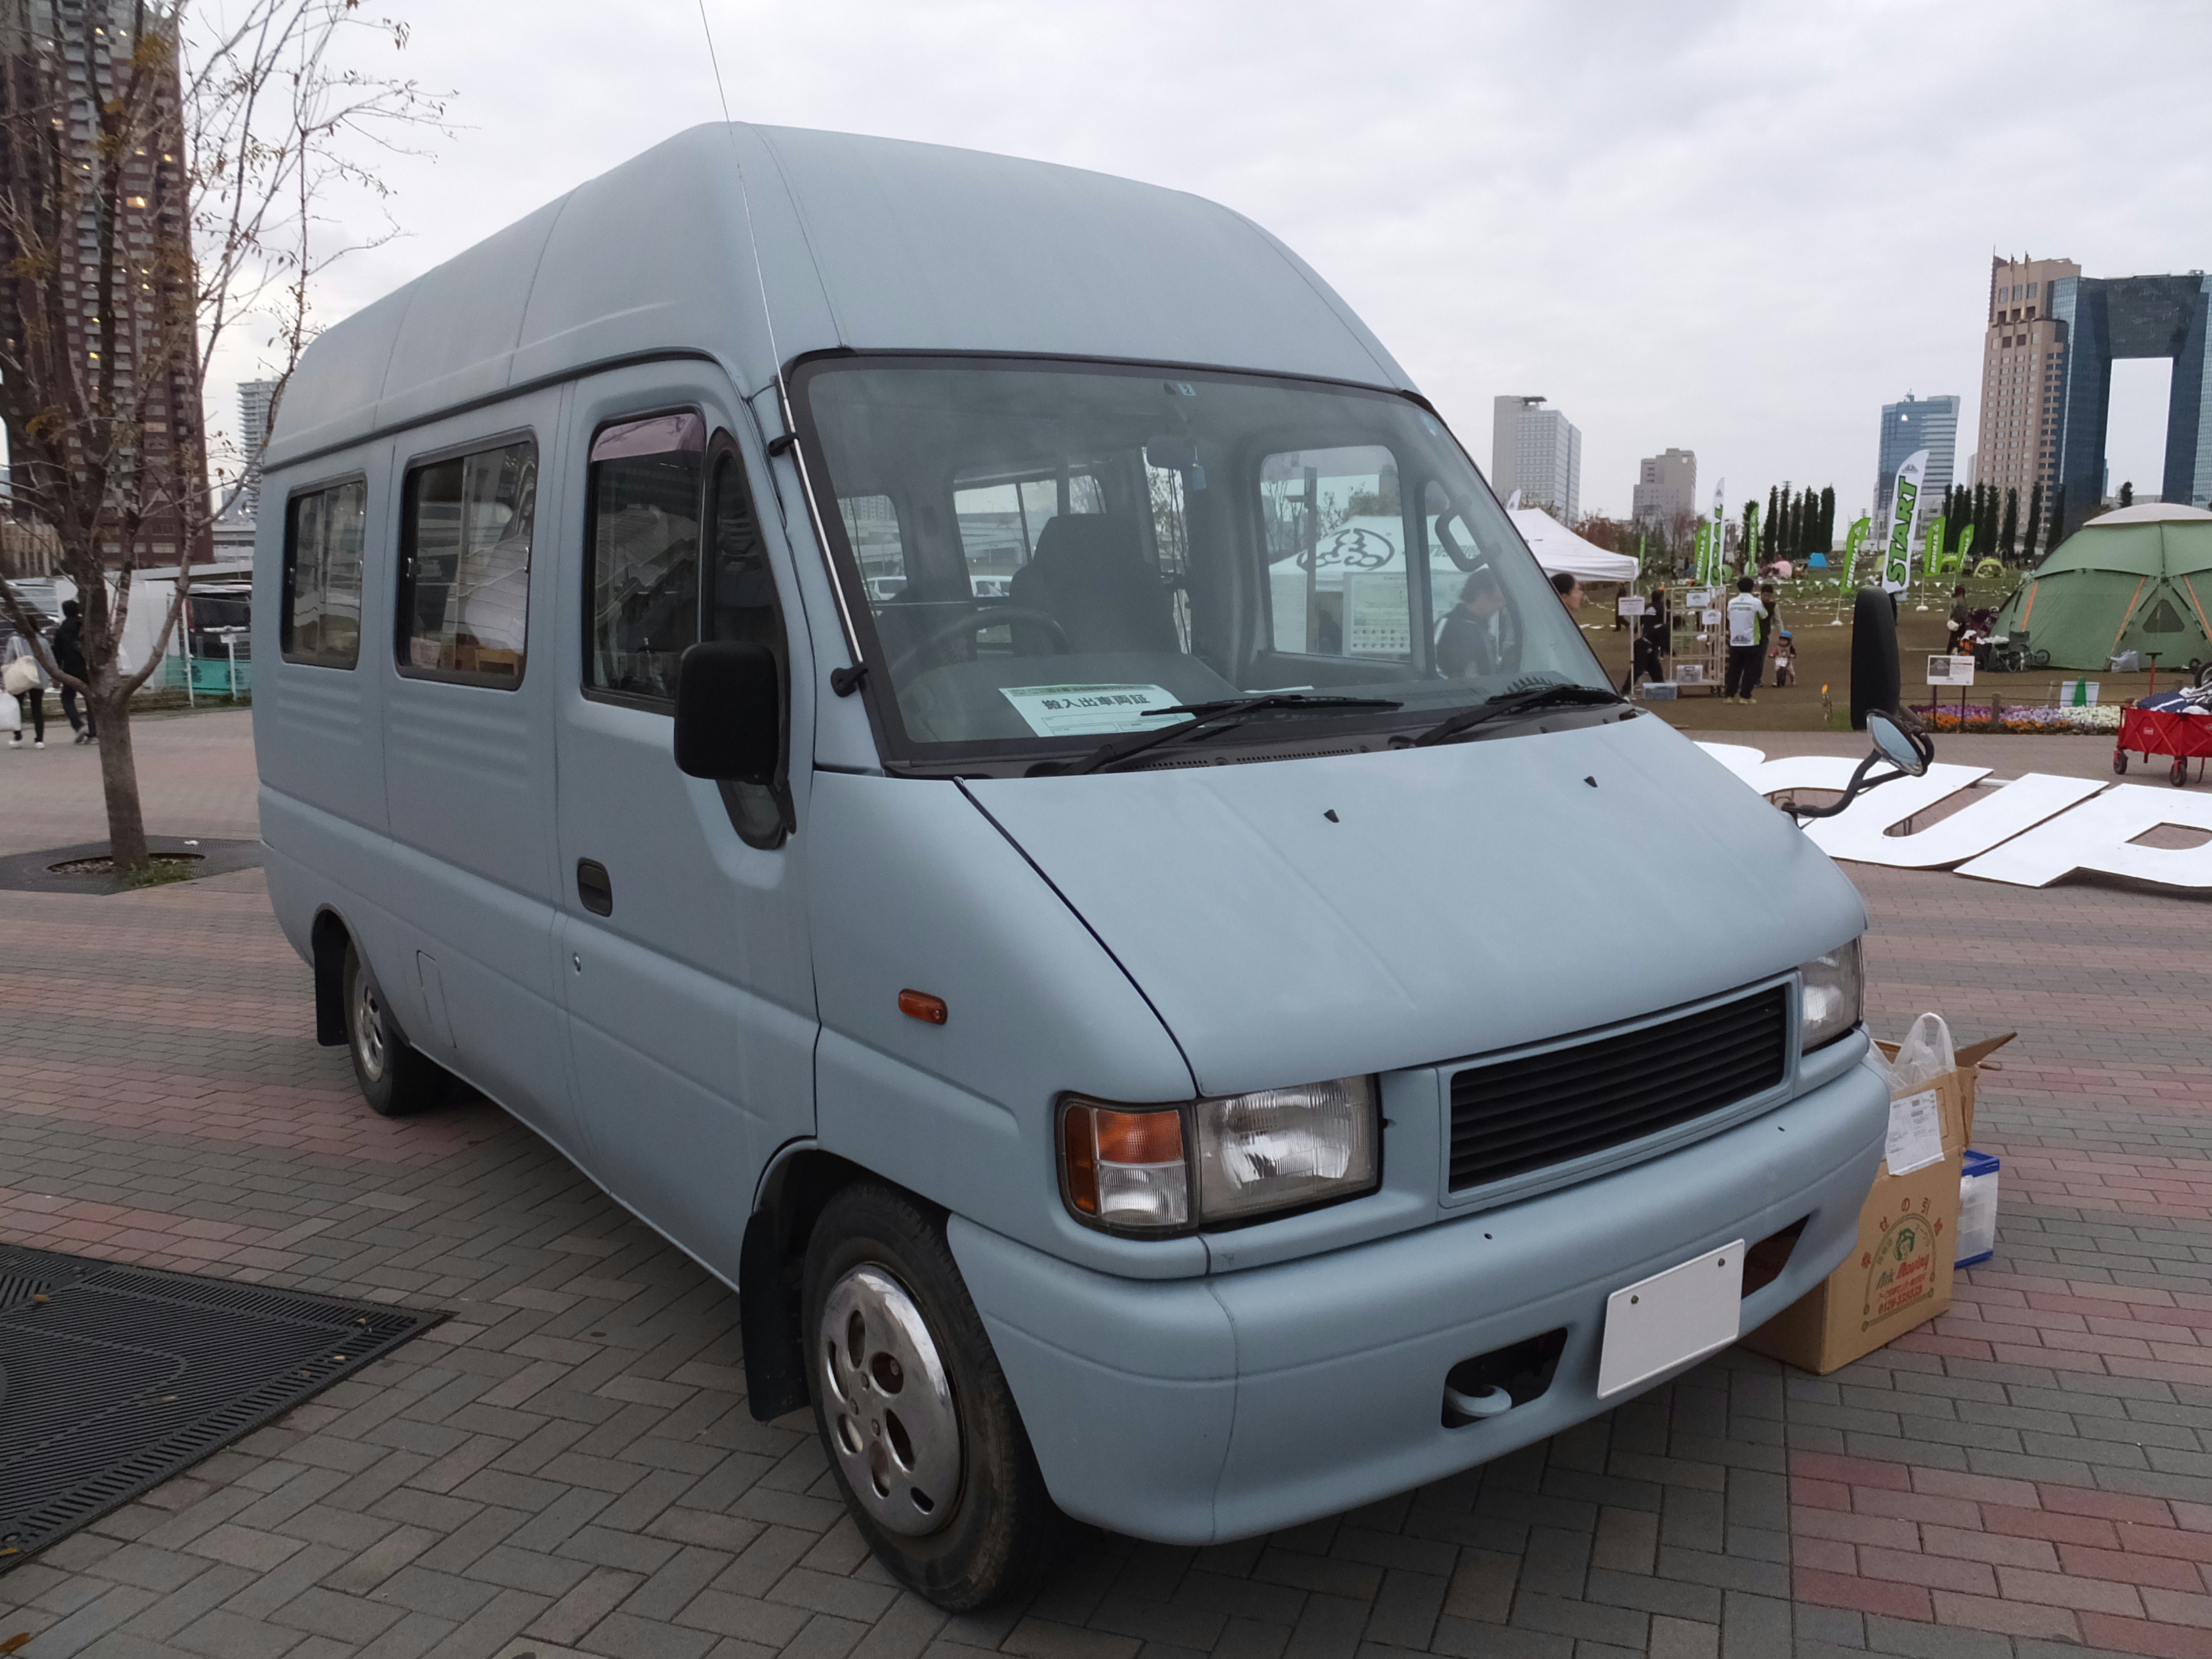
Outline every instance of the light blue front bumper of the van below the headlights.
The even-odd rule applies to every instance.
[[[1889,1124],[1867,1066],[1747,1124],[1526,1203],[1270,1267],[1135,1281],[953,1217],[949,1239],[1071,1515],[1166,1544],[1334,1515],[1608,1411],[1606,1296],[1807,1217],[1752,1329],[1849,1252]],[[1551,1389],[1447,1429],[1444,1374],[1564,1327]],[[1663,1378],[1655,1378],[1659,1383]]]

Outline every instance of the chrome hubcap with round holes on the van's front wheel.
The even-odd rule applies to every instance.
[[[854,1267],[830,1290],[814,1343],[823,1411],[845,1484],[869,1520],[920,1537],[960,1495],[960,1418],[922,1312],[883,1267]]]

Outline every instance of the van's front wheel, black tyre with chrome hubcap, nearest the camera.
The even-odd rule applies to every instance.
[[[945,1225],[874,1181],[841,1190],[807,1239],[801,1310],[814,1425],[876,1559],[949,1613],[1035,1584],[1068,1522]]]

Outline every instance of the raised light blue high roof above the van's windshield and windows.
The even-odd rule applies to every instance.
[[[940,144],[710,124],[321,334],[265,465],[595,365],[699,352],[750,394],[834,347],[1413,387],[1305,261],[1201,197]]]

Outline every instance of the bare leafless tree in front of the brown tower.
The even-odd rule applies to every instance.
[[[376,159],[445,104],[338,62],[403,49],[358,0],[0,0],[0,420],[9,511],[51,526],[82,602],[64,672],[0,584],[9,622],[100,728],[108,852],[146,869],[131,697],[161,664],[210,546],[201,387],[239,336],[279,383],[314,334],[314,279],[347,246],[330,201],[387,195]],[[259,462],[239,456],[223,482]],[[177,564],[146,661],[124,666],[131,577]]]

